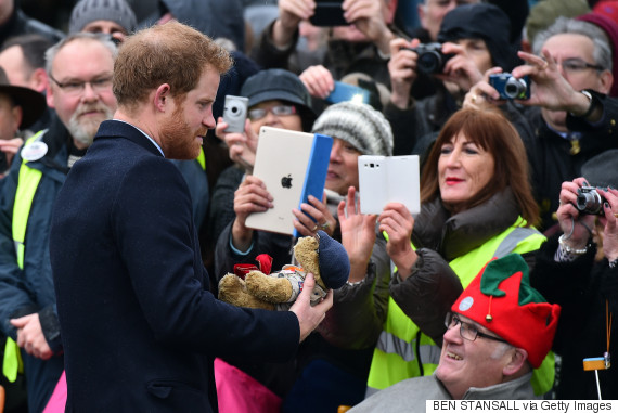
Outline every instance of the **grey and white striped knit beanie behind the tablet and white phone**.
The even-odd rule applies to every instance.
[[[392,155],[390,124],[364,103],[342,102],[326,107],[311,131],[346,141],[363,155]]]

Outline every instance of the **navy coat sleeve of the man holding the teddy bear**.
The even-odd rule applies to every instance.
[[[154,184],[146,189],[143,177]],[[199,253],[191,198],[175,166],[157,157],[134,166],[114,194],[112,217],[114,240],[132,286],[125,293],[134,292],[158,343],[223,357],[242,347],[243,357],[271,361],[294,354],[299,338],[294,313],[241,309],[215,299],[198,282],[204,268],[195,262]],[[275,339],[276,350],[269,348]]]

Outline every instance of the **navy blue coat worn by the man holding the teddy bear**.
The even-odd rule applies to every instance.
[[[297,349],[294,313],[208,292],[186,183],[127,124],[101,124],[72,168],[50,254],[69,412],[209,412],[215,357],[286,361]]]

